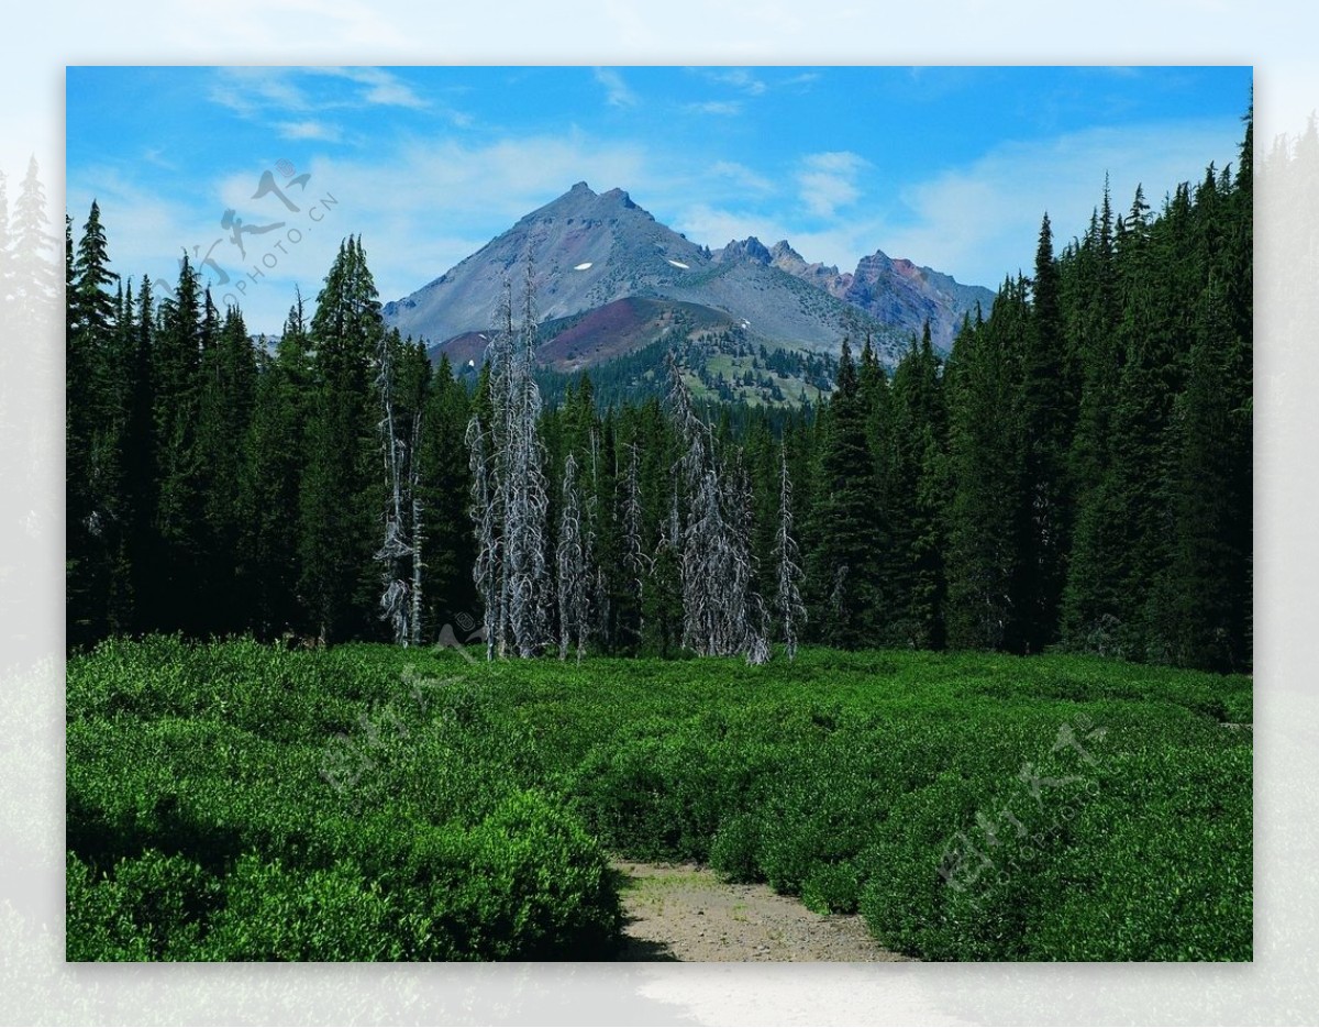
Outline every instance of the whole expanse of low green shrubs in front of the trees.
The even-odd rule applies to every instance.
[[[1249,958],[1240,676],[148,637],[67,680],[71,959],[605,955],[601,847],[933,959]]]

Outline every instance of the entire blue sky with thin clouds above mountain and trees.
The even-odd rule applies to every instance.
[[[210,256],[216,300],[277,331],[350,232],[394,300],[583,179],[711,247],[786,238],[844,271],[882,249],[996,286],[1046,210],[1084,230],[1105,172],[1115,206],[1140,182],[1157,207],[1235,161],[1250,70],[70,67],[66,87],[75,228],[95,197],[116,271]]]

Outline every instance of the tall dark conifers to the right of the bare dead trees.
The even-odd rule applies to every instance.
[[[1105,189],[1060,253],[1046,216],[942,368],[927,343],[892,380],[844,368],[815,426],[824,639],[1250,666],[1250,149],[1248,119],[1236,172],[1158,215]]]

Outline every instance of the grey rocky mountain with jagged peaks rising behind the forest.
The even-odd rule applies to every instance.
[[[720,251],[657,222],[621,189],[578,182],[532,211],[439,278],[385,305],[389,323],[425,338],[455,363],[479,363],[503,282],[530,259],[541,358],[561,371],[590,367],[673,337],[732,331],[752,344],[836,354],[842,339],[869,335],[893,363],[929,317],[935,340],[951,343],[968,300],[962,286],[882,253],[856,273],[807,264],[782,241],[757,239]],[[988,300],[984,300],[988,306]]]

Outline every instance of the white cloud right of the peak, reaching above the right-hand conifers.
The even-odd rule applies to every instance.
[[[882,249],[960,282],[997,288],[1005,274],[1030,272],[1045,211],[1055,249],[1086,231],[1103,198],[1105,169],[1116,211],[1126,210],[1137,183],[1157,211],[1165,193],[1181,181],[1198,181],[1210,160],[1219,168],[1235,161],[1239,133],[1240,125],[1227,120],[1091,129],[1004,144],[897,189],[882,206],[867,202],[880,190],[873,183],[863,190],[868,165],[856,154],[811,154],[794,179],[806,201],[802,211],[766,207],[745,195],[679,202],[670,210],[678,211],[675,228],[711,247],[748,235],[766,245],[787,239],[807,261],[836,264],[840,271],[852,271],[863,256]],[[715,165],[711,172],[733,183],[737,169]]]

